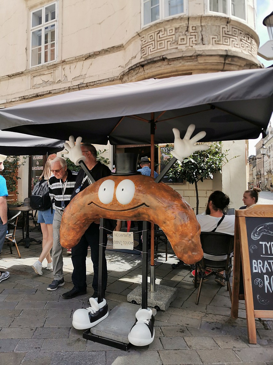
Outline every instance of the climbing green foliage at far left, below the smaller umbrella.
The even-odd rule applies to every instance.
[[[26,164],[27,156],[23,156],[23,161],[20,162],[20,156],[8,156],[4,161],[5,169],[1,172],[1,175],[7,181],[7,189],[8,193],[12,193],[16,191],[16,183],[20,177],[17,176],[17,170],[20,166],[24,166]]]

